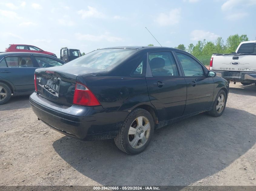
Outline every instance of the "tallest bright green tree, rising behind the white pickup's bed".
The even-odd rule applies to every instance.
[[[238,34],[230,35],[226,41],[226,53],[235,52],[238,45],[243,41],[248,41],[248,37],[246,34],[242,34],[241,36],[239,36]]]

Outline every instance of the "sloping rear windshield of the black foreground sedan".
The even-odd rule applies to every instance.
[[[135,52],[136,50],[133,49],[99,49],[72,60],[63,66],[82,66],[108,71]]]

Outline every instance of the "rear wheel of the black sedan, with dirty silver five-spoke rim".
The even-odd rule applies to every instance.
[[[151,114],[144,109],[135,109],[122,124],[114,139],[115,145],[128,154],[139,154],[149,145],[154,128]]]

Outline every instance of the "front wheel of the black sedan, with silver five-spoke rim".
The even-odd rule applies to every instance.
[[[211,111],[208,111],[210,116],[219,117],[225,110],[227,102],[227,95],[224,90],[220,90],[217,94]]]

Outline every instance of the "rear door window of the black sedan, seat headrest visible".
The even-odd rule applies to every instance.
[[[178,68],[170,52],[148,54],[148,61],[153,76],[178,76]]]

